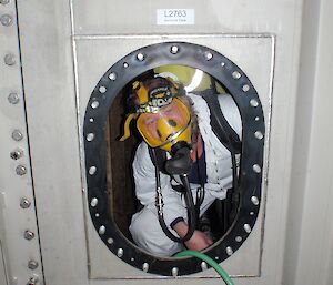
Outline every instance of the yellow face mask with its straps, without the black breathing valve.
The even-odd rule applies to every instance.
[[[158,85],[151,91],[142,82],[135,81],[135,113],[128,115],[124,135],[130,136],[130,123],[137,119],[137,129],[151,147],[171,151],[172,145],[183,141],[191,144],[191,115],[188,106],[179,99],[176,85],[168,79],[169,86]]]

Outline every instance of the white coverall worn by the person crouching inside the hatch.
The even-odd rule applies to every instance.
[[[204,201],[200,211],[200,214],[203,214],[215,199],[225,199],[226,191],[232,185],[232,164],[229,150],[212,131],[206,102],[199,95],[188,95],[194,103],[200,134],[204,141],[206,183],[204,184]],[[219,95],[218,98],[225,119],[241,138],[242,122],[233,99],[230,95]],[[133,175],[137,197],[144,206],[132,216],[130,232],[134,242],[140,248],[159,256],[171,256],[182,251],[183,245],[171,241],[160,226],[155,208],[155,169],[145,142],[138,146],[133,161]],[[193,197],[195,197],[199,186],[191,184]],[[161,189],[164,201],[164,221],[169,228],[176,217],[183,217],[186,221],[185,203],[181,199],[181,194],[172,189],[171,177],[163,173],[161,173]],[[178,236],[173,230],[171,232]]]

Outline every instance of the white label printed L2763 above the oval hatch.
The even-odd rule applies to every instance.
[[[158,9],[157,24],[194,24],[194,9]]]

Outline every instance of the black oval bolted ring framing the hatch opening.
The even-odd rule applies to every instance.
[[[164,42],[135,50],[115,64],[94,88],[84,116],[83,140],[91,218],[108,248],[125,263],[148,273],[175,276],[201,272],[200,259],[153,256],[128,241],[108,214],[107,153],[104,130],[109,109],[117,94],[138,75],[165,64],[200,69],[220,81],[231,93],[242,118],[240,165],[241,205],[230,231],[205,254],[222,262],[246,240],[258,217],[261,202],[264,116],[259,95],[245,73],[219,52],[193,43]]]

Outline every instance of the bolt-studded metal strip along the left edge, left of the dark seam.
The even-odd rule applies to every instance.
[[[42,284],[14,1],[0,4],[0,276],[3,284]]]

